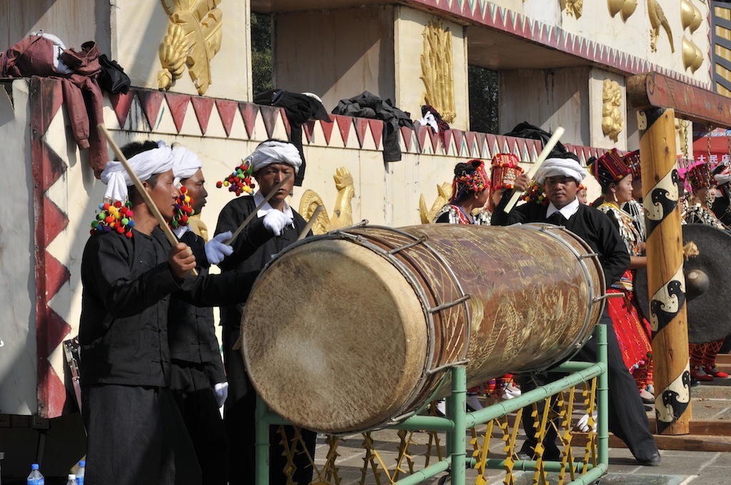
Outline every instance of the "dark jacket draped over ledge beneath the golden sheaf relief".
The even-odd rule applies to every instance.
[[[398,127],[414,129],[411,113],[393,106],[390,99],[381,99],[375,94],[363,91],[351,99],[341,99],[332,111],[333,115],[374,118],[383,121],[383,161],[400,161],[401,146],[398,145]]]

